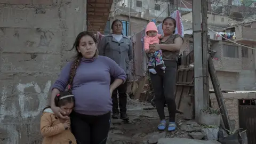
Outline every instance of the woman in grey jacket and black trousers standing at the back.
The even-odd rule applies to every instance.
[[[112,22],[111,29],[112,34],[105,35],[101,39],[98,45],[99,55],[109,57],[114,60],[119,67],[121,67],[126,74],[130,73],[129,63],[132,59],[132,42],[129,37],[122,34],[123,25],[121,20],[115,20]],[[119,117],[118,101],[117,101],[117,91],[119,95],[119,109],[120,118],[129,119],[126,114],[126,103],[127,103],[127,81],[118,86],[116,90],[113,91],[113,115],[112,118]]]

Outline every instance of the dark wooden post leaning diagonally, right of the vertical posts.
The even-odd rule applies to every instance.
[[[219,105],[219,107],[221,107],[220,112],[222,114],[222,119],[223,119],[223,123],[225,125],[225,129],[231,130],[228,111],[227,111],[225,102],[223,100],[223,94],[222,94],[222,91],[220,89],[219,79],[217,77],[217,73],[216,73],[215,68],[214,68],[212,57],[210,55],[209,55],[209,59],[208,59],[208,64],[209,64],[209,73],[210,73],[210,77],[211,77],[211,80],[212,80],[212,86],[213,86],[213,89],[214,89],[214,92],[215,92],[215,95],[216,95],[216,99],[218,101],[218,105]]]

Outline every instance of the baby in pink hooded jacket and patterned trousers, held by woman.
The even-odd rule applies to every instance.
[[[149,52],[149,44],[157,43],[159,44],[159,38],[162,38],[162,35],[158,34],[157,27],[154,22],[149,22],[144,37],[144,50],[146,53]],[[165,70],[162,50],[155,51],[154,53],[150,53],[150,58],[148,62],[148,70],[152,74],[156,74],[155,66],[161,67],[161,69]]]

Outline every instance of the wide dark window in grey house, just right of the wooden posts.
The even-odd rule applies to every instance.
[[[223,45],[223,57],[238,58],[238,46]]]

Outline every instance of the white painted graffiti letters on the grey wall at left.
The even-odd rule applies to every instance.
[[[26,102],[27,101],[33,101],[34,98],[27,97],[25,93],[25,89],[29,87],[34,87],[35,92],[38,95],[38,108],[36,110],[31,109],[25,109]],[[42,111],[42,109],[47,105],[47,95],[49,93],[51,87],[51,81],[47,81],[45,84],[44,89],[41,89],[39,85],[35,82],[26,83],[26,84],[18,84],[17,90],[18,90],[18,100],[19,108],[15,106],[15,102],[12,102],[11,108],[6,107],[5,103],[7,100],[7,87],[3,87],[2,91],[2,97],[1,97],[1,103],[0,110],[0,123],[4,120],[6,116],[13,116],[13,119],[15,117],[22,117],[22,118],[28,118],[28,117],[36,117],[39,115]],[[7,138],[8,141],[6,144],[13,144],[13,143],[19,143],[19,139],[21,137],[21,133],[17,131],[17,127],[15,124],[5,124],[3,126],[3,129],[7,132]]]

